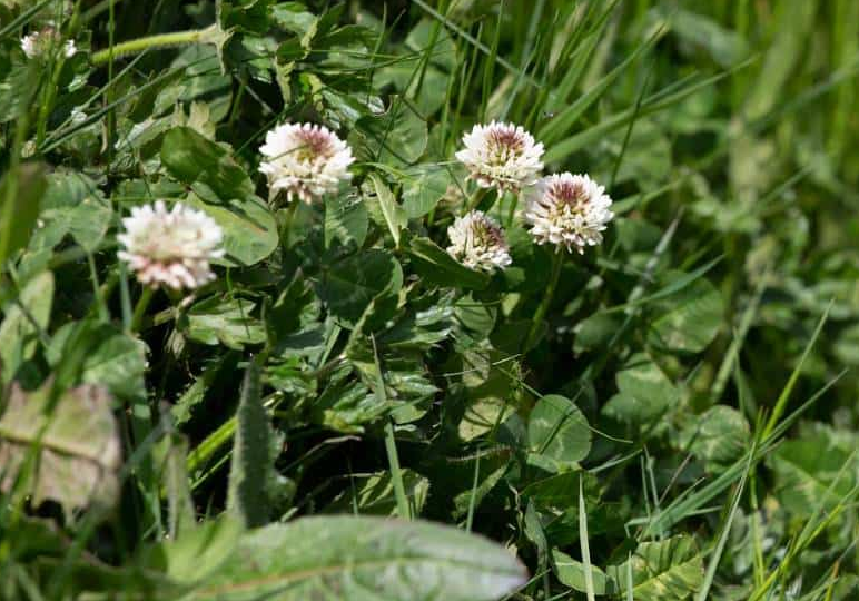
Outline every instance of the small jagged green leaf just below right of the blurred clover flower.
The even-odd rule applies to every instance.
[[[251,317],[256,305],[245,298],[211,296],[194,305],[185,316],[185,333],[196,342],[218,343],[237,351],[246,344],[261,344],[266,339],[263,324]]]

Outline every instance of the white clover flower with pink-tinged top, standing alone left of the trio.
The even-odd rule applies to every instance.
[[[268,159],[259,170],[268,177],[269,190],[273,195],[285,190],[289,200],[297,196],[309,204],[352,179],[352,149],[324,126],[277,126],[259,151]]]

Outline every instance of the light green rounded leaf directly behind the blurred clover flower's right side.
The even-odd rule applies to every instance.
[[[224,229],[227,256],[220,263],[229,266],[256,265],[277,248],[277,223],[259,197],[251,195],[213,205],[191,194],[186,201],[208,214]]]

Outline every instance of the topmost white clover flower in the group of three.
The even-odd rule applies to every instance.
[[[543,145],[534,144],[534,137],[521,126],[476,125],[463,136],[463,144],[456,158],[482,188],[519,191],[533,185],[543,169]]]

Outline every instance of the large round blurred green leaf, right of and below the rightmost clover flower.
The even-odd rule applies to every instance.
[[[670,286],[684,275],[672,272],[664,284]],[[648,342],[669,352],[700,353],[715,338],[724,317],[721,294],[704,278],[654,303],[651,309],[658,317],[650,323]]]

